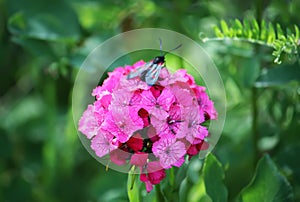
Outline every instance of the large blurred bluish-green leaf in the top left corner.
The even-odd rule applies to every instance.
[[[72,7],[64,1],[8,2],[9,31],[19,37],[74,42],[80,27]]]

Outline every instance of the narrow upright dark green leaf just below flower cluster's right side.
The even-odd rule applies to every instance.
[[[204,161],[203,178],[206,193],[212,201],[227,201],[228,192],[223,183],[224,177],[224,170],[221,163],[214,155],[209,154]]]

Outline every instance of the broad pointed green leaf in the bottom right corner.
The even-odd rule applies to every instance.
[[[258,162],[250,184],[241,192],[240,200],[288,202],[293,201],[293,191],[271,158],[265,155]]]

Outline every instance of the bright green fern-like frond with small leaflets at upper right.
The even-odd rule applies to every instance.
[[[276,29],[274,28],[276,27]],[[276,30],[276,31],[275,31]],[[284,55],[290,60],[299,60],[300,33],[297,25],[294,25],[294,31],[287,28],[284,32],[280,24],[274,26],[262,20],[244,20],[243,23],[235,19],[228,25],[226,21],[220,21],[220,28],[214,27],[217,38],[203,38],[203,42],[211,40],[241,40],[249,43],[256,43],[263,46],[269,46],[274,49],[272,55],[274,62],[280,64]]]

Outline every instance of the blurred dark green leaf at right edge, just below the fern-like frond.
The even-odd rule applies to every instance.
[[[292,81],[300,82],[300,68],[294,65],[279,65],[277,67],[265,70],[257,79],[256,87],[279,86]]]

